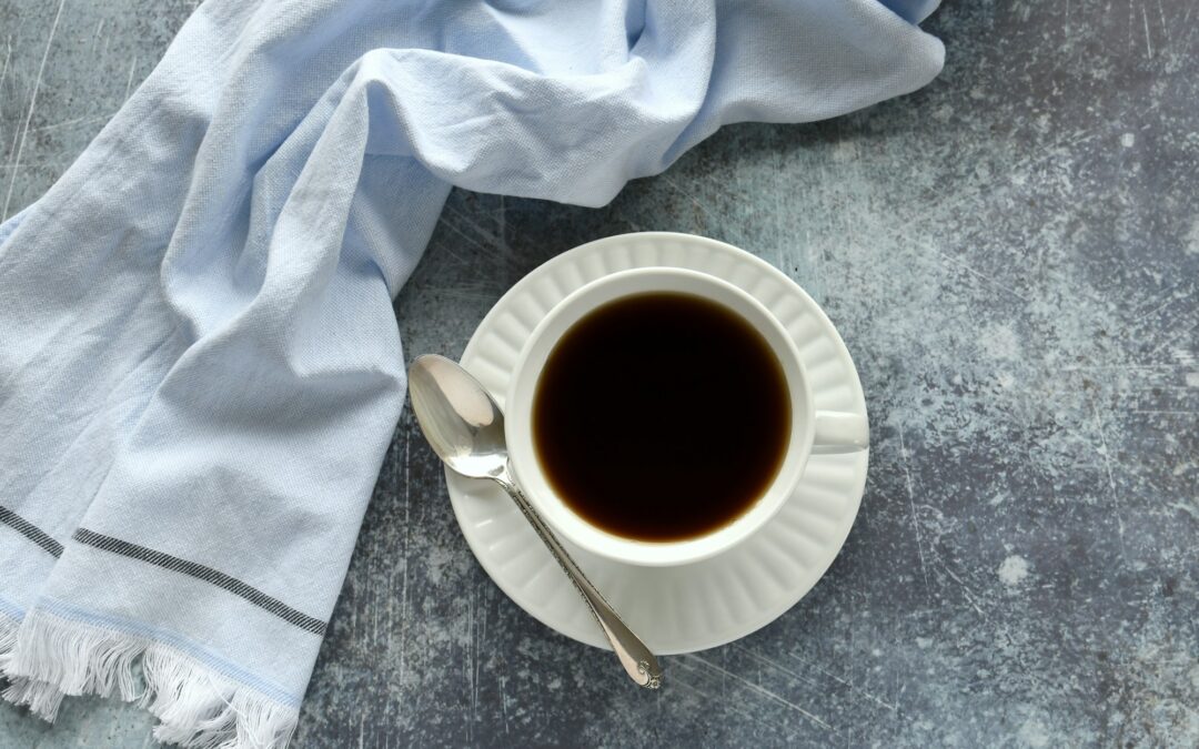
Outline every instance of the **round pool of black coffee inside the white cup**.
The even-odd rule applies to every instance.
[[[778,358],[734,312],[641,294],[576,322],[534,397],[534,445],[554,490],[627,538],[703,536],[748,509],[787,453]]]

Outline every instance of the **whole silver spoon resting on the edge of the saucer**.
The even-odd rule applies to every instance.
[[[416,421],[438,457],[456,472],[470,478],[490,478],[508,493],[583,596],[616,651],[620,665],[641,687],[661,687],[658,659],[591,585],[512,478],[504,439],[504,412],[490,393],[456,362],[436,355],[420,356],[412,362],[408,369],[408,388]]]

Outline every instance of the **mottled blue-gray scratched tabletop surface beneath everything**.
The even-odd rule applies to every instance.
[[[91,5],[55,25],[56,4],[0,0],[5,215],[192,7]],[[691,231],[778,265],[839,326],[874,424],[827,576],[638,691],[483,574],[405,412],[296,745],[1199,745],[1199,6],[951,4],[927,28],[948,58],[926,90],[728,128],[607,209],[456,192],[396,303],[409,356],[457,356],[596,237]],[[150,726],[0,707],[14,747]]]

